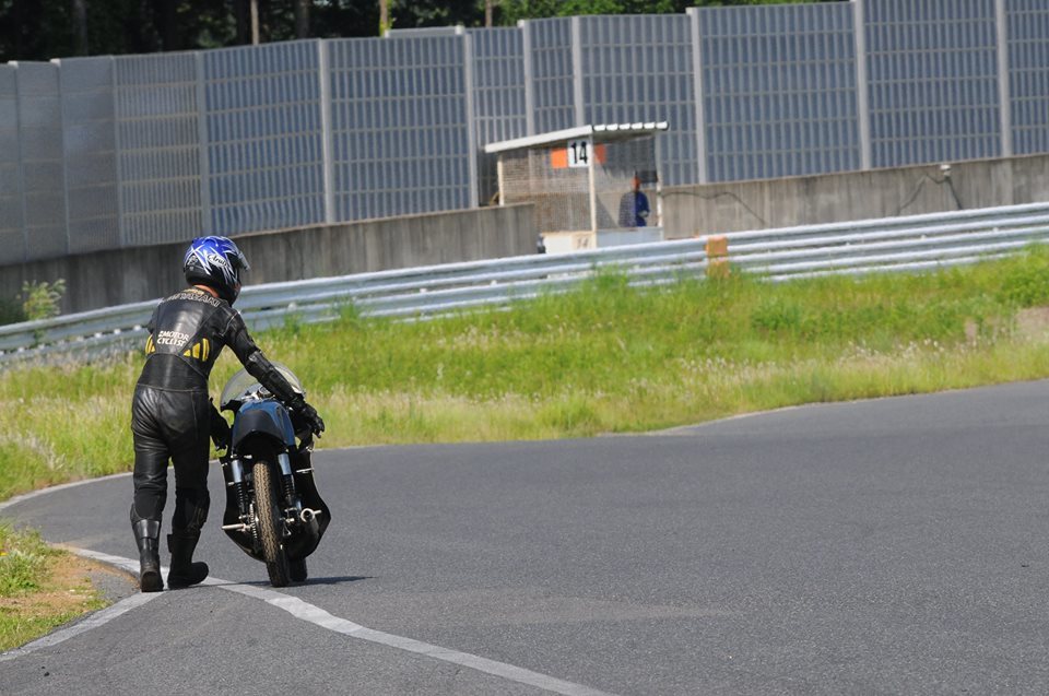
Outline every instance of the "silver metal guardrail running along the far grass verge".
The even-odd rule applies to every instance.
[[[534,255],[245,287],[254,330],[330,321],[346,308],[415,319],[577,287],[601,269],[635,285],[703,278],[712,267],[773,282],[829,274],[923,271],[1001,258],[1049,243],[1049,203],[708,235],[566,255]],[[92,357],[145,340],[157,300],[0,327],[0,366],[55,355]]]

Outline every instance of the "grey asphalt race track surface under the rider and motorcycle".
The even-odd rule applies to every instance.
[[[326,451],[333,522],[280,594],[220,531],[215,467],[219,582],[0,658],[0,693],[1049,693],[1047,444],[1042,381]],[[0,515],[131,558],[130,491]]]

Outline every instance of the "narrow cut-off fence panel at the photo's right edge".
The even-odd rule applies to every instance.
[[[1049,4],[1005,3],[1013,152],[1049,152]]]

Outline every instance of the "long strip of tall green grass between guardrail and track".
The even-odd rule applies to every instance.
[[[347,308],[257,340],[303,378],[323,446],[585,437],[791,404],[1049,376],[1049,251],[922,275],[637,290],[605,273],[508,311]],[[127,471],[141,355],[0,374],[0,499]],[[217,391],[239,365],[225,352]]]

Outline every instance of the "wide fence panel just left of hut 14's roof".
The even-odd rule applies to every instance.
[[[329,56],[337,219],[469,208],[463,37],[333,40]]]

